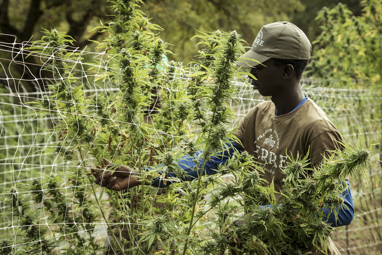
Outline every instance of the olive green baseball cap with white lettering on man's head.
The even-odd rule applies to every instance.
[[[238,60],[235,64],[251,68],[271,58],[308,60],[311,51],[312,45],[301,29],[288,21],[278,21],[263,26],[251,49],[242,56],[247,59]]]

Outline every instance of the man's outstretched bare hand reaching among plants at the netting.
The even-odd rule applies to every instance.
[[[105,170],[92,169],[91,173],[88,173],[88,175],[94,175],[95,184],[115,191],[127,190],[141,184],[138,177],[139,173],[133,168],[121,165],[113,169],[114,172],[111,172],[107,169],[112,168],[113,164],[105,158],[103,161],[102,167],[106,167]]]

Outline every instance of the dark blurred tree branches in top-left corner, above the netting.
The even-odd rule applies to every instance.
[[[109,20],[111,13],[104,0],[2,0],[0,32],[17,37],[16,42],[41,38],[42,28],[67,31],[76,47],[84,47],[87,39],[97,39],[99,31],[88,33],[99,20]],[[7,42],[8,37],[0,36]]]

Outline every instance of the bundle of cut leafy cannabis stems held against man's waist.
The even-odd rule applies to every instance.
[[[242,193],[240,195],[244,198],[246,217],[244,224],[230,226],[232,233],[227,235],[225,242],[232,244],[240,240],[242,250],[249,254],[260,252],[259,249],[269,254],[303,254],[303,250],[311,244],[326,253],[325,240],[330,236],[332,227],[325,221],[324,210],[337,218],[338,208],[348,209],[340,195],[347,189],[345,179],[351,176],[355,180],[362,175],[366,180],[367,166],[373,166],[371,160],[374,156],[370,154],[372,145],[364,147],[361,141],[355,146],[343,145],[344,151],[335,152],[325,159],[312,174],[308,174],[312,169],[307,167],[307,156],[290,158],[283,169],[285,179],[279,203],[274,203],[272,195],[269,196],[266,191],[260,197],[266,197],[268,201],[258,199],[261,189],[256,175],[250,185],[248,179],[238,181],[232,188],[240,185],[245,188],[238,194]],[[243,173],[243,176],[246,175],[248,173]],[[263,204],[271,206],[259,207]],[[263,245],[259,247],[259,244]]]

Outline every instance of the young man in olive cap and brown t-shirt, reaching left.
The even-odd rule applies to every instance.
[[[284,178],[280,168],[286,165],[288,155],[304,157],[309,151],[310,167],[317,168],[325,156],[333,150],[341,149],[341,134],[329,121],[325,113],[301,88],[301,75],[308,64],[311,44],[306,35],[292,23],[282,21],[262,27],[251,49],[236,64],[251,68],[253,88],[263,96],[271,96],[271,101],[259,103],[240,121],[235,135],[241,144],[233,142],[224,155],[233,150],[246,150],[262,164],[265,174],[262,178],[281,189]],[[257,61],[255,61],[257,60]],[[251,78],[251,77],[250,77]],[[198,152],[201,153],[201,152]],[[181,159],[180,167],[189,174],[185,180],[197,178],[199,174],[215,174],[217,166],[228,157],[212,157],[204,170],[193,171],[194,162],[189,156]],[[104,159],[105,165],[110,162]],[[95,183],[112,190],[124,190],[137,186],[138,177],[131,175],[135,170],[122,166],[119,172],[105,172],[97,176]],[[166,173],[166,176],[175,176]],[[151,185],[165,187],[170,181],[155,180]],[[349,186],[349,183],[348,183]],[[335,226],[350,224],[354,209],[350,188],[343,194],[349,209],[340,210],[338,219],[329,218]],[[333,214],[331,214],[333,216]],[[328,254],[340,254],[331,240],[327,244]],[[314,247],[307,248],[312,254],[322,254]]]

